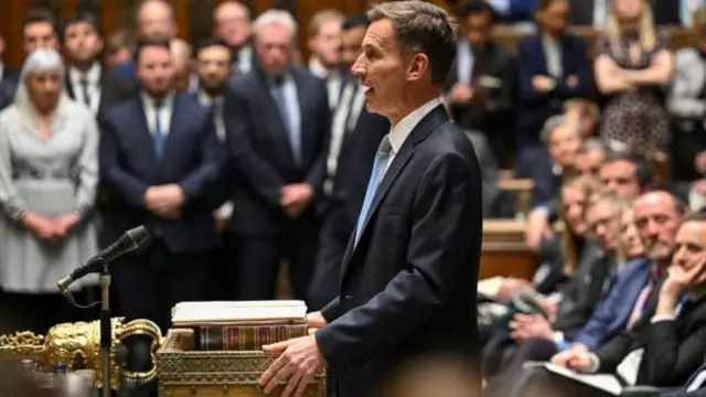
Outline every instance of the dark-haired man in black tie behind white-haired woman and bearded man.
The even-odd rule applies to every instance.
[[[136,92],[131,81],[121,79],[100,66],[104,42],[99,31],[98,19],[86,11],[68,17],[61,31],[67,60],[66,94],[97,116],[111,105],[131,98]]]

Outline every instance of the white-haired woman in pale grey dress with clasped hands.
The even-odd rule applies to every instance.
[[[77,320],[56,281],[96,253],[98,137],[90,111],[64,92],[60,54],[32,52],[14,104],[0,112],[0,287],[12,308],[1,329]]]

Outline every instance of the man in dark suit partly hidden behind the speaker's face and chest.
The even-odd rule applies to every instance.
[[[367,17],[343,21],[342,65],[350,71],[362,51]],[[323,183],[325,215],[319,236],[314,276],[309,285],[311,310],[320,310],[339,294],[339,272],[343,253],[363,205],[365,186],[381,139],[389,132],[389,121],[365,108],[365,93],[354,76],[343,87],[341,103],[333,112]]]

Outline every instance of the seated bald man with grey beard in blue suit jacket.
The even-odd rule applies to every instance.
[[[629,218],[621,224],[621,230],[624,232],[621,243],[623,236],[625,239],[632,238],[631,228],[637,226],[640,235],[638,242],[641,245],[644,243],[644,249],[631,253],[628,246],[630,242],[624,242],[621,251],[630,261],[624,265],[606,300],[573,341],[558,332],[550,335],[536,332],[536,322],[542,322],[543,319],[525,318],[523,321],[534,324],[523,332],[534,333],[535,336],[523,343],[515,355],[515,367],[525,361],[549,360],[555,353],[566,350],[595,350],[612,336],[630,331],[649,311],[649,303],[659,296],[659,286],[671,264],[675,249],[674,238],[685,211],[686,207],[667,192],[650,192],[638,197],[633,210],[622,214]],[[646,258],[642,257],[643,254],[646,254]]]

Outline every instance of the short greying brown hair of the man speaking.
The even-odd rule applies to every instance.
[[[420,0],[392,1],[374,7],[367,18],[391,20],[404,54],[426,54],[431,82],[446,82],[456,58],[458,23],[445,9]]]

